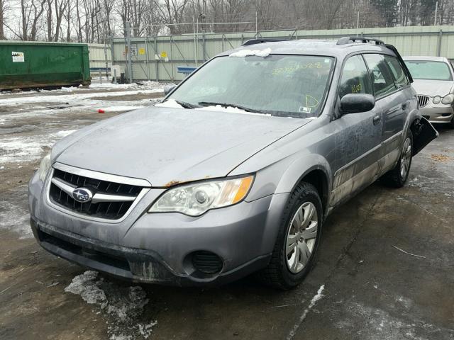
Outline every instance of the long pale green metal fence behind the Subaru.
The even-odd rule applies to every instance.
[[[198,33],[130,38],[130,41],[128,38],[113,38],[109,46],[96,47],[98,48],[96,55],[99,56],[102,50],[104,58],[107,58],[104,51],[110,48],[108,51],[110,55],[107,53],[109,59],[113,60],[113,64],[120,65],[121,72],[126,72],[127,78],[128,57],[131,55],[133,80],[179,81],[184,78],[184,74],[177,73],[178,66],[199,66],[220,52],[242,45],[248,39],[338,39],[346,35],[382,39],[396,46],[401,55],[438,55],[454,58],[454,26]],[[128,43],[131,44],[130,49]]]

